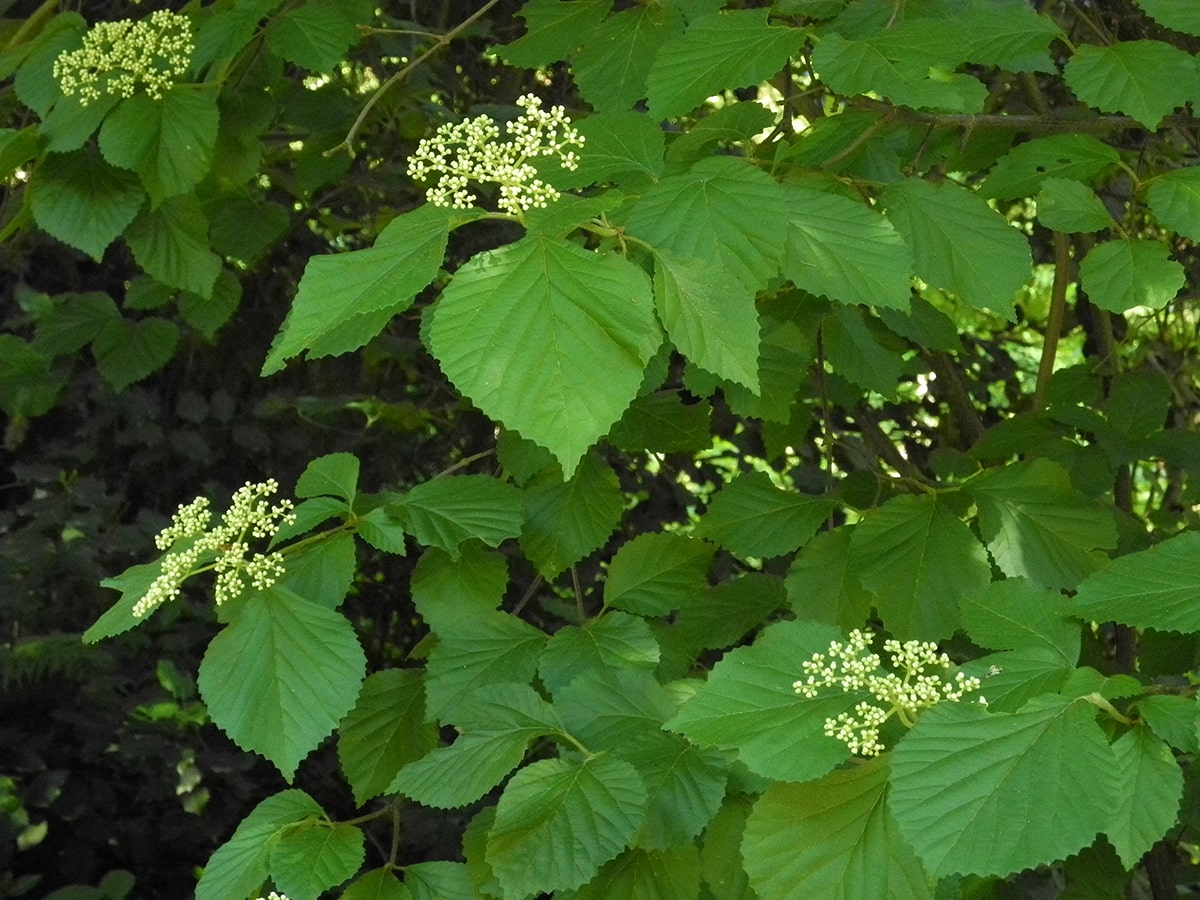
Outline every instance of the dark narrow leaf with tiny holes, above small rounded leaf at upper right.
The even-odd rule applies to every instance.
[[[1046,179],[1090,182],[1108,174],[1121,155],[1091,134],[1034,138],[1009,150],[983,182],[984,197],[1008,200],[1036,194]]]

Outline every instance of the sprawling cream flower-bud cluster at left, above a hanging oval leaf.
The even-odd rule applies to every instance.
[[[274,538],[280,526],[295,521],[290,500],[270,506],[263,499],[278,490],[274,478],[259,484],[247,481],[234,492],[216,528],[209,527],[212,512],[206,498],[197,497],[180,506],[170,524],[154,539],[158,550],[169,552],[160,562],[158,577],[133,605],[134,618],[149,616],[179,596],[185,580],[210,569],[217,574],[217,606],[241,594],[247,580],[257,590],[274,584],[283,575],[283,556],[275,552],[248,556],[248,539]]]

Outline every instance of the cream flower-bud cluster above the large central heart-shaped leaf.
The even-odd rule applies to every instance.
[[[508,140],[500,140],[500,128],[490,115],[478,115],[443,125],[432,138],[416,145],[408,158],[408,175],[437,175],[437,184],[425,192],[430,203],[454,209],[473,206],[478,198],[469,190],[472,181],[499,185],[497,203],[514,216],[546,206],[562,196],[538,178],[530,160],[557,156],[563,168],[576,169],[580,157],[571,148],[582,148],[583,136],[571,126],[563,107],[547,112],[532,94],[518,98],[517,106],[524,112],[505,124]]]

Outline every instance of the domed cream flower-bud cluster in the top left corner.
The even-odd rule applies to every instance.
[[[84,35],[83,47],[54,61],[54,78],[67,96],[88,106],[102,94],[132,97],[140,84],[155,100],[174,84],[192,60],[192,23],[160,10],[133,22],[100,22]]]

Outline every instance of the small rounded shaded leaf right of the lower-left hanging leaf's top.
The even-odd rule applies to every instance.
[[[509,583],[505,558],[468,544],[454,559],[430,548],[413,570],[413,606],[436,632],[454,631],[462,619],[493,612]]]

